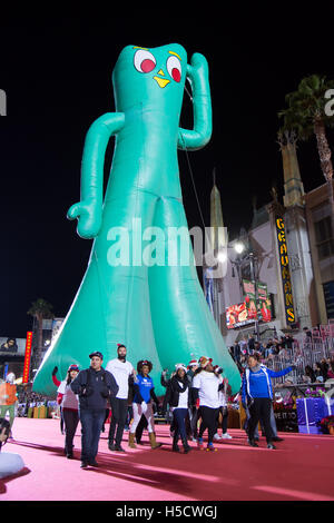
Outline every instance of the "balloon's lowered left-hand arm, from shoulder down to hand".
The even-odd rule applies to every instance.
[[[78,218],[78,235],[94,238],[102,220],[104,164],[108,141],[124,126],[122,112],[107,112],[88,129],[81,162],[81,199],[67,214],[69,219]]]

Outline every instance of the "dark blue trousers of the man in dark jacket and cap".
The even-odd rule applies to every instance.
[[[94,461],[98,453],[106,408],[96,411],[82,408],[79,415],[81,422],[81,461]]]

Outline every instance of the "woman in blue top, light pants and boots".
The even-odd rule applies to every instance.
[[[151,448],[158,448],[159,446],[161,446],[161,443],[157,443],[155,434],[153,401],[157,405],[158,409],[159,403],[155,394],[155,385],[153,378],[149,376],[151,369],[153,364],[147,359],[140,359],[140,362],[137,363],[138,374],[134,379],[134,421],[129,432],[130,448],[136,448],[135,434],[143,414],[147,420],[148,437]]]

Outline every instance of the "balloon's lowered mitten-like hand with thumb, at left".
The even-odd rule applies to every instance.
[[[79,201],[72,205],[68,213],[68,219],[78,219],[78,235],[82,238],[95,238],[101,227],[102,209],[96,201]]]

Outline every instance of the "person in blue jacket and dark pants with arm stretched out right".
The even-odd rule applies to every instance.
[[[248,408],[250,418],[248,421],[248,442],[250,446],[258,446],[254,441],[255,428],[261,420],[265,430],[267,448],[276,448],[273,445],[273,430],[271,425],[271,409],[273,402],[272,377],[284,376],[291,373],[295,366],[274,372],[261,364],[261,354],[254,353],[248,356],[247,367],[243,374],[242,403]]]

